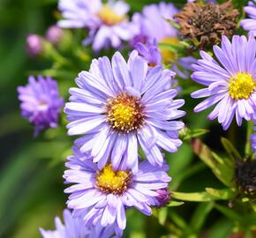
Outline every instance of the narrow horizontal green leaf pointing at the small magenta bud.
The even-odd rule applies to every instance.
[[[213,197],[206,191],[202,192],[172,192],[171,197],[183,201],[191,202],[208,202],[216,200],[217,197]]]

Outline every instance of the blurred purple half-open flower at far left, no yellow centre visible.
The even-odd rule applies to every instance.
[[[33,76],[28,78],[27,86],[18,87],[21,115],[28,118],[35,127],[34,134],[40,130],[57,126],[57,118],[64,100],[59,97],[56,81],[52,78]]]

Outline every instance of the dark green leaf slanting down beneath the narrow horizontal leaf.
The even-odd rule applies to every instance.
[[[205,220],[207,219],[207,215],[214,208],[213,202],[201,203],[196,211],[193,213],[191,220],[191,227],[198,233],[203,227]]]

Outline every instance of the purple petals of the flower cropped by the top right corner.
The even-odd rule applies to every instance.
[[[244,9],[250,19],[241,20],[241,26],[243,26],[246,31],[250,31],[256,36],[256,0],[250,1]]]

